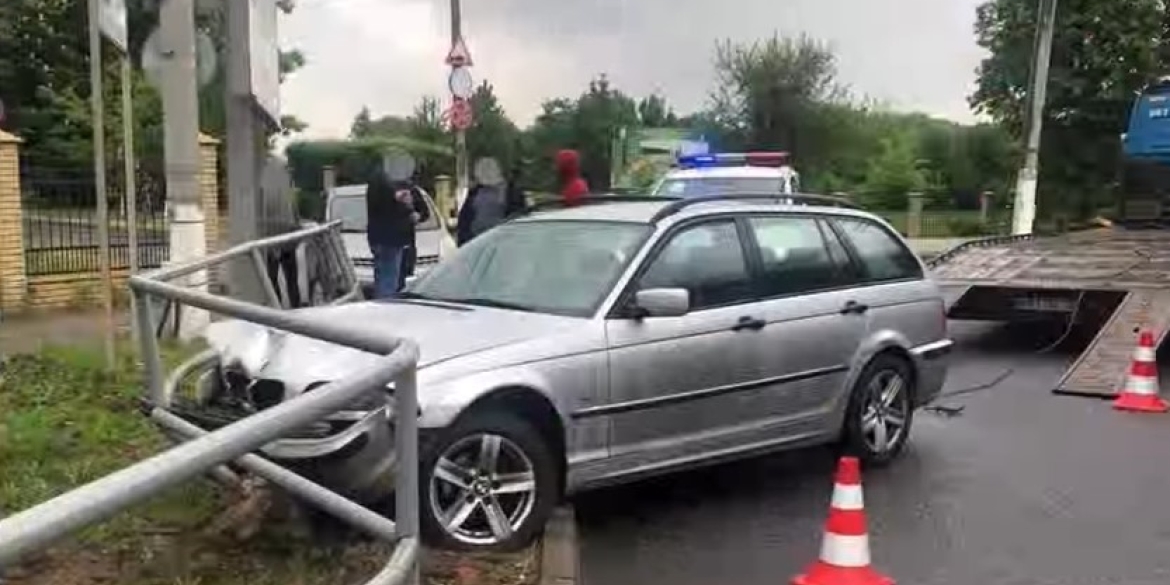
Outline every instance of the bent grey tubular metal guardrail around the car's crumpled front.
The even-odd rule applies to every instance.
[[[260,275],[264,274],[262,252],[280,246],[325,238],[332,253],[342,250],[339,226],[314,227],[292,234],[247,242],[219,254],[184,264],[171,266],[130,280],[138,312],[138,340],[147,374],[147,398],[144,410],[149,417],[172,436],[187,439],[166,452],[105,477],[62,494],[48,502],[0,519],[0,567],[12,564],[23,555],[41,549],[81,528],[103,521],[163,490],[212,474],[230,479],[234,473],[223,464],[234,462],[271,483],[295,494],[376,538],[397,543],[385,569],[370,585],[415,584],[419,579],[419,517],[418,517],[418,387],[415,366],[418,346],[371,330],[339,328],[296,312],[247,303],[187,289],[170,281],[195,274],[211,266],[242,256],[252,256]],[[347,264],[346,264],[347,266]],[[357,282],[352,269],[343,269],[340,277],[352,296]],[[266,281],[266,278],[261,278]],[[267,281],[266,281],[267,282]],[[191,371],[192,363],[180,366],[170,379],[164,378],[158,343],[151,317],[152,297],[183,303],[233,318],[267,325],[273,329],[337,343],[384,356],[367,371],[330,383],[314,392],[273,406],[214,432],[207,432],[167,411],[170,384]],[[270,295],[270,300],[275,296]],[[278,307],[278,304],[277,304]],[[206,362],[201,355],[192,362]],[[394,440],[398,449],[395,470],[395,510],[391,521],[352,502],[328,488],[297,475],[271,461],[252,454],[267,443],[288,435],[322,417],[337,412],[373,387],[393,383],[393,395],[387,393],[387,405],[394,418]]]

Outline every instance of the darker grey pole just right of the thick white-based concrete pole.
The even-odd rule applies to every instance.
[[[223,96],[227,112],[227,208],[228,238],[232,245],[259,236],[257,193],[260,123],[253,111],[252,44],[248,39],[248,1],[227,2],[227,84]],[[241,260],[229,267],[228,292],[240,300],[262,303],[264,289],[252,262]]]

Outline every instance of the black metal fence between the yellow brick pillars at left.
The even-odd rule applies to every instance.
[[[163,184],[150,172],[140,172],[137,184],[138,262],[142,268],[157,268],[170,257]],[[27,273],[37,276],[97,271],[101,242],[92,172],[26,168],[21,185]],[[121,173],[111,173],[106,191],[113,269],[130,267],[130,223],[123,185]]]

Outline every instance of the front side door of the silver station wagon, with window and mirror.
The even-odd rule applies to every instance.
[[[734,394],[760,374],[751,352],[759,339],[749,310],[755,283],[734,219],[679,228],[642,266],[627,302],[641,289],[684,288],[691,304],[681,317],[606,322],[611,404],[603,412],[611,452],[628,457],[627,468],[727,446],[742,422]]]

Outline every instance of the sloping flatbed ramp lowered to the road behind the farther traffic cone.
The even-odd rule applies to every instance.
[[[1053,392],[1101,398],[1116,395],[1134,355],[1137,332],[1154,331],[1161,345],[1166,326],[1170,326],[1170,290],[1130,292]]]

